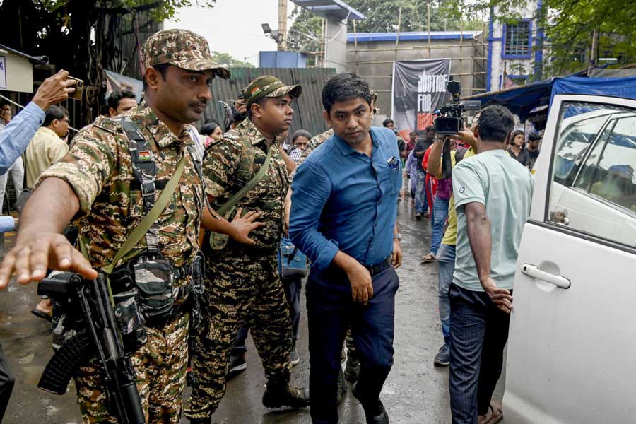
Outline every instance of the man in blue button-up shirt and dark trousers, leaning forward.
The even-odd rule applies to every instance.
[[[379,400],[393,365],[395,293],[401,264],[396,202],[401,189],[395,134],[371,128],[371,92],[341,73],[322,90],[334,136],[298,167],[290,237],[312,260],[307,281],[310,393],[314,424],[338,422],[336,391],[348,326],[361,369],[353,394],[369,424],[388,424]]]

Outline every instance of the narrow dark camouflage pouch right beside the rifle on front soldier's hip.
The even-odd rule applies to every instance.
[[[143,326],[143,318],[137,303],[139,291],[128,290],[112,295],[114,300],[114,317],[119,330],[122,331],[124,351],[133,353],[148,341],[148,333]]]

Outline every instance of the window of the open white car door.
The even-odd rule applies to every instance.
[[[565,102],[557,134],[546,220],[636,247],[636,110]]]

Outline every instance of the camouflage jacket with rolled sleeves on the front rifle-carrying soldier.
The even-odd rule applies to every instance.
[[[170,179],[182,155],[187,156],[180,183],[158,220],[161,253],[175,266],[182,266],[199,249],[197,237],[204,206],[201,179],[187,151],[192,139],[186,129],[175,136],[145,102],[122,114],[122,118],[144,128],[141,132],[153,149],[157,181]],[[49,167],[37,184],[48,177],[64,179],[78,196],[81,210],[76,223],[79,235],[88,242],[93,266],[100,269],[110,264],[144,216],[141,191],[131,189],[136,178],[121,124],[117,119],[100,118],[84,127],[73,139],[71,151]],[[158,189],[155,199],[160,193]],[[135,249],[145,247],[144,237]]]

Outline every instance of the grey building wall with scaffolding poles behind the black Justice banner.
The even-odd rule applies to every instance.
[[[418,59],[451,59],[451,76],[461,81],[461,94],[483,93],[486,86],[483,34],[476,36],[476,42],[466,38],[460,40],[400,41],[395,49],[395,41],[348,42],[347,69],[359,73],[378,95],[376,106],[382,116],[391,116],[391,87],[393,62]],[[476,59],[473,59],[475,57]],[[460,60],[460,58],[463,58]],[[464,74],[459,76],[459,74]]]

